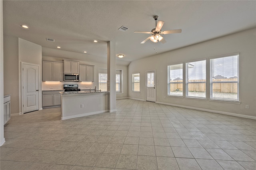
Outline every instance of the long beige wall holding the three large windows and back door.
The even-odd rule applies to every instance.
[[[132,61],[128,66],[128,96],[145,100],[145,71],[156,70],[156,102],[189,108],[256,116],[256,30],[246,30],[207,42],[190,45],[166,53]],[[167,96],[167,65],[239,52],[240,104],[187,99]],[[132,92],[132,73],[140,72],[140,93]],[[206,96],[209,96],[210,77],[206,76]],[[250,109],[245,109],[250,105]]]

